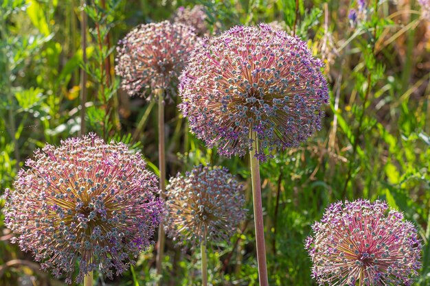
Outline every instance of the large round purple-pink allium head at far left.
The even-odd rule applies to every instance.
[[[5,223],[43,269],[77,282],[98,268],[112,277],[147,248],[163,215],[158,179],[140,154],[95,134],[46,145],[6,190]]]

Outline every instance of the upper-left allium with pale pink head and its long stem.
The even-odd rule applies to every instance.
[[[140,95],[158,101],[159,173],[161,198],[166,191],[166,152],[164,104],[175,94],[174,83],[194,48],[194,28],[181,23],[140,25],[120,40],[115,71],[122,77],[122,88],[129,95]],[[161,274],[164,230],[159,228],[157,274]]]

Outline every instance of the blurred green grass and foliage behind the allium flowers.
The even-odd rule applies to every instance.
[[[359,10],[354,0],[91,0],[83,12],[82,3],[0,2],[0,194],[36,148],[80,134],[82,70],[86,130],[141,150],[157,172],[157,110],[120,90],[115,45],[135,25],[200,4],[212,31],[277,21],[326,62],[331,93],[324,128],[261,165],[269,284],[315,285],[303,246],[310,225],[331,202],[368,198],[387,200],[417,226],[424,249],[416,285],[430,285],[430,19],[423,19],[417,1],[370,0]],[[358,14],[354,23],[351,9]],[[245,182],[251,210],[249,158],[207,150],[188,133],[176,107],[180,99],[174,100],[166,105],[168,177],[199,163],[229,167]],[[63,285],[10,237],[0,215],[0,285]],[[212,285],[258,285],[251,211],[231,241],[212,249]],[[98,277],[98,285],[153,285],[157,279],[200,285],[199,254],[181,252],[170,240],[166,252],[161,277],[150,250],[115,280]]]

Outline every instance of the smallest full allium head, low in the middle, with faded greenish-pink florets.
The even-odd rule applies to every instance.
[[[194,167],[170,178],[166,191],[164,226],[181,246],[227,241],[245,218],[242,185],[223,167]]]

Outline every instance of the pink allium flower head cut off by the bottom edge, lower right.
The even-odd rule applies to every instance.
[[[306,249],[319,285],[412,285],[421,241],[411,222],[385,202],[338,202],[313,224]]]

